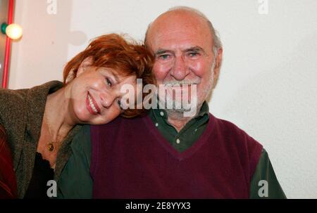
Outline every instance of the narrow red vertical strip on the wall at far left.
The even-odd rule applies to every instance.
[[[13,4],[14,0],[8,2],[8,25],[11,25],[13,21]],[[6,37],[6,51],[4,53],[4,77],[2,80],[2,88],[6,88],[8,85],[8,68],[10,65],[10,51],[11,51],[11,39]]]

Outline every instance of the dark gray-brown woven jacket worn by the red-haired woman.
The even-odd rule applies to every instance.
[[[0,124],[8,134],[19,198],[24,197],[32,177],[46,97],[62,86],[61,82],[53,81],[32,89],[0,89]],[[58,150],[54,171],[56,181],[71,154],[70,143],[81,127],[75,126]]]

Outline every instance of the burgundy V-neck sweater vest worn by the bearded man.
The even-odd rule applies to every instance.
[[[92,126],[94,198],[249,198],[262,146],[235,124],[209,117],[182,153],[149,116]]]

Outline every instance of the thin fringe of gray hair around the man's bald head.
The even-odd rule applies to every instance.
[[[201,11],[198,11],[195,8],[190,8],[188,6],[175,6],[173,8],[168,9],[168,12],[170,11],[190,11],[193,12],[197,15],[199,15],[199,17],[203,18],[204,20],[206,20],[208,26],[209,26],[209,30],[211,32],[211,35],[213,37],[213,53],[214,56],[216,57],[218,54],[218,50],[220,48],[223,48],[223,44],[220,41],[220,37],[218,32],[215,30],[215,28],[213,28],[213,24],[211,23],[211,21],[206,17],[206,15],[204,15],[204,13],[201,13]],[[151,23],[149,24],[149,26],[147,27],[147,32],[145,34],[145,38],[144,38],[144,44],[147,45],[147,34],[149,32],[149,28],[151,27]]]

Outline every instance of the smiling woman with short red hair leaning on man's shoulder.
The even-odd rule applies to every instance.
[[[19,198],[47,198],[46,184],[58,180],[82,124],[106,124],[118,115],[144,112],[123,109],[121,87],[136,88],[136,79],[153,84],[152,63],[144,46],[107,34],[68,62],[63,83],[0,90],[0,124],[8,136]]]

